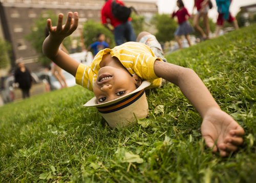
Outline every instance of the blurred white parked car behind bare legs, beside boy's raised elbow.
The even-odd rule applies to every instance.
[[[67,83],[68,87],[72,87],[72,86],[76,85],[75,77],[72,74],[68,73],[65,70],[62,70],[62,74],[64,75],[64,77],[66,79],[66,83]],[[36,73],[36,75],[38,76],[38,78],[40,80],[46,80],[49,83],[51,90],[56,90],[56,89],[61,88],[59,82],[52,75],[51,71],[38,72],[38,73]]]

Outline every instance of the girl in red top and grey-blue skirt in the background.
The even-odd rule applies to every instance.
[[[172,17],[174,18],[175,16],[177,16],[178,18],[179,27],[175,31],[174,35],[181,49],[182,48],[181,36],[184,35],[188,45],[191,46],[189,34],[194,32],[194,29],[191,27],[191,25],[187,21],[187,17],[190,17],[190,15],[187,12],[187,9],[184,7],[182,0],[177,1],[177,6],[179,7],[179,10],[177,12],[173,12]]]

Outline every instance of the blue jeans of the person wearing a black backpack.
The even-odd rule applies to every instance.
[[[117,25],[114,30],[116,45],[123,44],[124,41],[136,41],[136,36],[133,30],[131,21],[126,21],[120,25]]]

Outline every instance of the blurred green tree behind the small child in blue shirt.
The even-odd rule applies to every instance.
[[[97,40],[97,34],[103,33],[106,39],[110,39],[110,47],[115,46],[114,35],[106,29],[100,22],[89,20],[83,24],[82,36],[84,45],[88,47],[90,44]]]

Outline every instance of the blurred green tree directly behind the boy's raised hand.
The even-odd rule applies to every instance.
[[[36,50],[38,53],[39,57],[38,60],[41,62],[43,65],[48,66],[51,63],[51,60],[49,60],[47,57],[42,54],[42,43],[44,42],[46,35],[46,18],[43,16],[43,14],[48,14],[49,17],[52,20],[52,25],[56,25],[57,23],[57,15],[55,15],[52,11],[47,11],[44,13],[41,13],[39,18],[34,20],[34,24],[31,27],[31,32],[26,36],[26,39],[31,43],[32,47]],[[36,38],[36,39],[35,39]],[[70,37],[66,38],[63,41],[63,44],[67,49],[69,50],[70,45],[71,45],[71,39]]]

